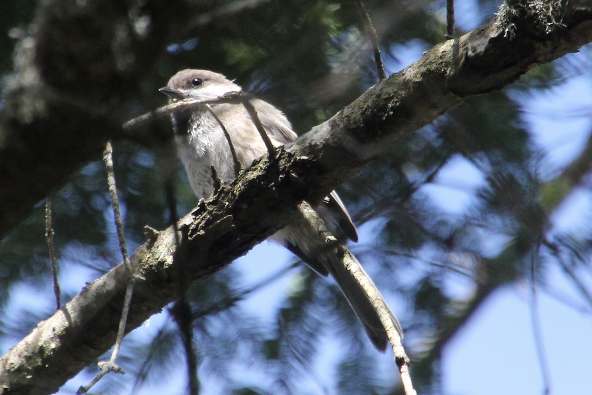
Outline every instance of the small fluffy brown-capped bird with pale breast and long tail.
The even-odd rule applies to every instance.
[[[184,99],[214,100],[232,92],[243,92],[239,85],[226,76],[198,69],[179,71],[159,91],[167,95],[171,102]],[[275,147],[297,138],[291,123],[282,111],[262,99],[249,98],[249,101]],[[192,190],[200,199],[207,199],[214,192],[212,166],[221,181],[230,182],[234,179],[235,157],[231,152],[230,143],[236,152],[236,159],[243,168],[247,168],[268,152],[253,118],[242,104],[213,102],[208,106],[209,108],[204,104],[182,109],[170,115],[178,156],[185,167]],[[220,123],[227,130],[230,143]],[[314,210],[339,243],[345,243],[348,239],[358,241],[356,226],[335,191],[314,207]],[[318,244],[315,237],[318,236],[313,234],[309,227],[294,223],[288,224],[269,239],[285,246],[318,274],[331,274],[362,322],[375,348],[384,351],[388,343],[387,333],[368,296],[334,252],[332,255],[330,251],[318,251],[314,248],[314,245]],[[401,324],[392,311],[390,314],[395,329],[403,338]]]

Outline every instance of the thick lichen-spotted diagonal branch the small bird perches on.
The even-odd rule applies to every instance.
[[[492,22],[436,46],[418,62],[368,89],[343,111],[278,152],[273,162],[264,159],[244,172],[230,189],[223,189],[213,201],[180,221],[181,248],[185,249],[181,256],[191,259],[191,264],[185,266],[191,268],[186,278],[189,281],[205,278],[243,255],[284,226],[300,201],[313,204],[320,201],[366,163],[387,152],[398,139],[463,99],[501,89],[529,68],[574,52],[592,41],[592,11],[578,8],[577,2],[570,4],[571,8],[562,15],[564,27],[551,32],[539,31],[539,24],[534,20],[529,22],[528,18],[516,23],[513,34],[507,34],[504,25]],[[83,117],[69,115],[74,122],[85,124]],[[104,123],[98,123],[95,128],[103,126]],[[96,140],[101,140],[105,132],[96,132]],[[5,140],[2,149],[14,149],[12,143]],[[91,145],[95,144],[100,152],[101,144]],[[58,150],[52,155],[65,155],[72,147],[64,143],[56,149],[65,151]],[[88,146],[80,150],[79,162],[91,159],[92,153],[94,149]],[[3,178],[7,169],[17,169],[7,166],[2,158]],[[28,166],[26,169],[33,165],[28,163]],[[31,177],[36,175],[24,169],[17,169],[21,171],[20,182],[33,182]],[[51,182],[38,187],[37,196],[63,182],[68,170],[72,168],[60,168],[60,176],[53,176]],[[15,174],[9,172],[11,177]],[[11,198],[7,186],[0,185],[0,196]],[[31,192],[31,188],[26,191]],[[0,212],[3,226],[0,229],[5,232],[22,219],[25,211],[9,220],[4,211]],[[137,282],[127,330],[139,326],[178,296],[176,265],[179,262],[174,259],[172,236],[171,229],[160,233],[131,257],[131,264],[143,279]],[[90,284],[0,359],[0,377],[8,381],[3,393],[56,391],[110,348],[126,290],[125,273],[120,265]]]

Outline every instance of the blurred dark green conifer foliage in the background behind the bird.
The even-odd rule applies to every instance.
[[[11,53],[31,33],[41,3],[0,2],[0,73],[5,85],[14,70]],[[76,1],[70,3],[76,7]],[[126,104],[129,118],[164,104],[157,88],[184,68],[217,70],[236,78],[284,110],[299,134],[377,82],[372,49],[352,1],[186,3],[194,3],[193,14],[182,17],[191,20],[185,24],[189,28],[177,35],[181,40],[170,42],[152,69],[144,70],[137,87],[144,100]],[[490,20],[499,3],[458,0],[457,34]],[[443,41],[443,1],[368,0],[365,5],[378,31],[387,73]],[[575,79],[590,84],[591,56],[590,48],[584,48],[533,69],[504,91],[470,99],[401,140],[390,155],[340,188],[356,224],[368,225],[361,243],[352,248],[403,323],[412,376],[421,391],[440,388],[444,348],[481,304],[501,287],[529,281],[532,266],[541,290],[554,287],[547,281],[552,270],[564,273],[590,313],[592,290],[578,280],[578,272],[590,274],[592,227],[574,222],[558,228],[561,219],[555,214],[576,190],[590,198],[591,142],[558,166],[548,159],[549,149],[539,144],[540,132],[526,121],[525,111],[529,98],[552,95],[556,86]],[[565,118],[590,115],[589,108],[574,107]],[[166,121],[150,127],[165,134],[170,129]],[[156,145],[115,143],[115,174],[131,251],[143,243],[144,225],[168,225]],[[96,159],[54,192],[63,302],[85,281],[120,261],[105,171]],[[458,184],[442,185],[446,181],[441,172],[453,166],[460,169],[455,174]],[[470,178],[465,179],[465,173]],[[179,213],[186,213],[197,202],[180,166],[175,184]],[[456,193],[448,197],[435,190]],[[448,200],[458,196],[465,203],[449,208]],[[590,207],[582,210],[581,217],[590,218]],[[2,351],[52,314],[49,302],[44,304],[52,299],[52,291],[43,214],[40,203],[0,245]],[[274,256],[266,259],[276,261]],[[244,302],[274,280],[260,279],[249,288],[244,276],[231,265],[189,292],[205,388],[237,395],[324,393],[322,388],[340,394],[399,391],[392,380],[394,366],[385,368],[385,359],[377,359],[332,282],[300,265],[282,271],[278,278],[287,278],[291,285],[274,293],[279,308],[272,309],[270,321]],[[120,364],[128,374],[104,378],[100,391],[133,388],[135,393],[150,393],[153,384],[182,370],[181,338],[172,318],[166,318],[169,312],[163,316],[151,323],[156,326],[152,335],[134,333],[124,340]],[[322,358],[327,339],[340,350],[329,362]],[[317,370],[320,361],[323,370]],[[63,390],[75,392],[86,381],[87,376],[76,378]],[[310,392],[303,392],[303,382]]]

